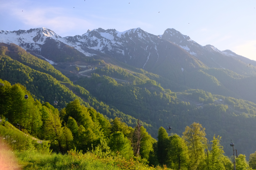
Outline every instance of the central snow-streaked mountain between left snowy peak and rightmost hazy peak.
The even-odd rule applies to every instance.
[[[64,37],[64,39],[81,46],[85,52],[89,52],[90,49],[97,50],[147,71],[152,71],[165,62],[170,63],[170,66],[179,65],[180,71],[182,71],[181,68],[192,69],[192,67],[203,65],[196,61],[195,57],[177,48],[175,44],[149,34],[140,28],[129,29],[124,32],[98,28],[88,30],[82,36],[76,35]],[[180,53],[183,55],[179,56],[179,59],[175,58]],[[185,60],[189,60],[191,64]]]

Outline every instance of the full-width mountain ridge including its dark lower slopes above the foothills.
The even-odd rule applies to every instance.
[[[29,37],[29,35],[33,36]],[[13,39],[8,39],[8,36]],[[244,84],[243,79],[236,81],[239,82],[238,85],[232,83],[233,79],[225,83],[227,79],[225,76],[233,73],[219,75],[217,70],[211,71],[210,74],[207,73],[209,71],[205,71],[216,68],[222,69],[220,72],[224,73],[227,69],[241,76],[251,77],[256,75],[256,67],[253,66],[256,63],[254,64],[253,60],[236,55],[230,50],[220,51],[212,45],[201,46],[175,29],[166,29],[163,35],[157,36],[141,28],[123,32],[98,28],[88,30],[82,36],[73,37],[60,37],[44,27],[18,32],[0,31],[0,41],[11,42],[11,40],[29,52],[35,52],[36,55],[53,62],[87,62],[86,55],[92,59],[112,60],[113,58],[179,84],[177,86],[166,84],[166,88],[174,91],[186,86],[212,94],[224,94],[256,102],[250,90],[239,89],[239,86]],[[248,80],[255,81],[253,77]],[[232,88],[230,84],[236,88],[230,91]]]

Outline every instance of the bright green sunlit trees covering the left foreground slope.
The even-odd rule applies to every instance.
[[[3,122],[0,125],[0,136],[14,150],[34,149],[44,153],[53,151],[65,154],[76,148],[82,153],[87,150],[103,157],[110,154],[127,159],[136,156],[136,128],[128,127],[120,118],[109,121],[95,109],[81,105],[78,99],[59,111],[48,102],[41,104],[38,100],[34,101],[29,92],[28,99],[25,99],[27,90],[20,84],[11,86],[8,81],[1,79],[0,82],[1,96],[5,96],[5,100],[1,101],[0,115]],[[9,129],[7,120],[16,127],[18,124],[21,131],[47,141],[37,143],[31,137],[24,137],[23,134]],[[140,141],[140,155],[147,160],[156,140],[143,126],[140,127],[140,134],[143,136]],[[41,150],[41,145],[46,150]]]

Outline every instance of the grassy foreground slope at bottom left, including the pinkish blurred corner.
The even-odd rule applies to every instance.
[[[11,131],[18,131],[9,122],[0,123],[0,129]],[[31,139],[31,137],[22,131],[19,132],[23,140]],[[1,133],[0,133],[1,135]],[[15,140],[15,136],[13,136]],[[17,139],[16,139],[17,140]],[[34,138],[35,141],[38,139]],[[32,142],[33,143],[33,142]],[[34,143],[35,144],[35,143]],[[30,147],[24,150],[13,150],[6,144],[5,140],[0,138],[0,162],[1,170],[11,169],[45,169],[45,170],[65,170],[65,169],[88,169],[88,170],[106,170],[106,169],[163,169],[161,167],[148,167],[137,160],[125,160],[118,156],[108,156],[100,158],[94,153],[87,152],[82,154],[79,151],[71,150],[67,154],[49,153],[37,148]],[[170,169],[169,169],[170,170]]]

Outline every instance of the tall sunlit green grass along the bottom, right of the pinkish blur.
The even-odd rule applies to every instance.
[[[126,160],[121,156],[109,156],[100,158],[91,152],[69,151],[67,154],[42,154],[35,150],[15,152],[20,165],[24,170],[153,170],[168,169],[166,167],[149,167],[138,160]],[[170,170],[170,169],[169,169]]]

